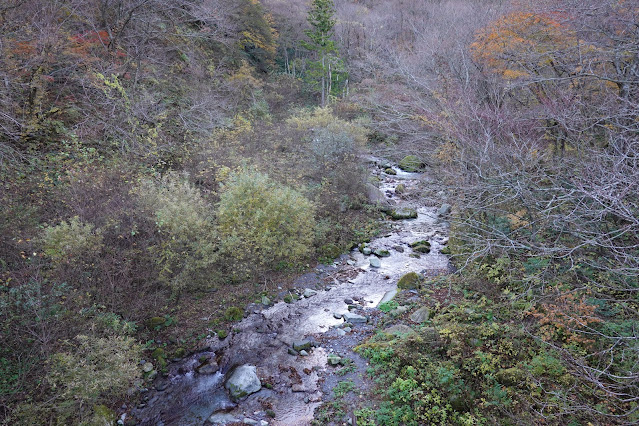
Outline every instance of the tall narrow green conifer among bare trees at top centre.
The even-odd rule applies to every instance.
[[[333,0],[313,0],[307,17],[312,28],[305,31],[310,42],[305,42],[304,47],[316,52],[318,57],[317,61],[310,63],[307,75],[314,86],[320,85],[322,107],[326,106],[327,98],[333,91],[334,79],[336,83],[339,82],[340,74],[345,71],[343,62],[337,56],[335,42],[331,40],[335,27],[334,14]]]

